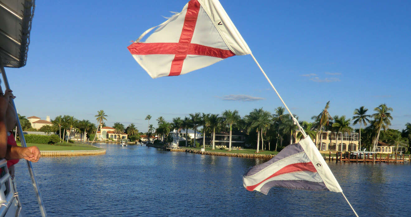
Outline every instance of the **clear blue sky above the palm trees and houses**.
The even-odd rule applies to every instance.
[[[327,101],[351,118],[393,108],[393,129],[411,122],[409,1],[220,1],[291,112],[311,121]],[[177,77],[151,79],[127,46],[187,0],[37,1],[27,65],[9,69],[19,113],[74,115],[140,131],[163,116],[282,106],[250,55]],[[240,96],[238,96],[240,95]],[[241,96],[244,95],[244,96]],[[156,125],[156,124],[155,124]]]

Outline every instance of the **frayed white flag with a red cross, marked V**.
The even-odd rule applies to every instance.
[[[182,75],[234,55],[251,54],[218,0],[190,0],[180,13],[128,46],[152,78]]]

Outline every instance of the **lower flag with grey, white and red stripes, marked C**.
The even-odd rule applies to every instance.
[[[252,167],[242,181],[247,190],[263,194],[272,187],[342,192],[309,136],[285,147],[266,163]]]

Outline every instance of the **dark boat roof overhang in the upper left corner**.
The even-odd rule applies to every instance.
[[[0,56],[4,67],[25,66],[35,0],[0,0]]]

